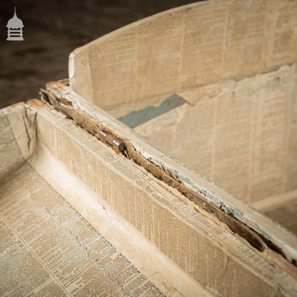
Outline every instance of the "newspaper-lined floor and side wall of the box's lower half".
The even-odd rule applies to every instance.
[[[22,165],[9,162],[7,168],[14,171],[8,174],[6,170],[2,178],[1,215],[7,234],[26,247],[22,249],[17,244],[14,249],[10,238],[5,238],[7,249],[2,257],[15,263],[13,267],[19,267],[22,262],[19,259],[25,258],[18,253],[11,258],[14,254],[10,247],[13,247],[14,252],[20,249],[26,257],[29,253],[34,263],[40,264],[38,285],[34,287],[28,279],[22,281],[28,293],[40,292],[44,273],[53,281],[44,282],[43,285],[50,284],[44,292],[61,290],[73,296],[100,290],[107,295],[117,292],[119,296],[125,292],[146,296],[141,290],[147,296],[179,296],[178,292],[195,296],[201,290],[201,294],[208,296],[200,285],[217,296],[261,296],[267,292],[294,296],[297,284],[290,274],[272,265],[264,254],[218,222],[175,197],[133,162],[115,154],[73,121],[48,107],[36,111],[25,105],[25,111],[19,109],[2,117],[5,123],[11,123],[6,124],[10,129],[6,141],[15,147],[23,143],[23,147],[15,150],[14,158],[22,160]],[[24,121],[27,126],[24,124],[21,131]],[[32,137],[34,129],[30,130],[30,125],[36,127],[36,138]],[[29,142],[24,141],[26,135]],[[32,146],[28,163],[22,156]],[[75,177],[75,181],[63,176]],[[98,206],[101,213],[97,212]],[[107,216],[100,219],[99,213]],[[121,232],[117,226],[122,228]],[[121,237],[122,233],[128,237]],[[145,246],[149,248],[146,253]],[[156,257],[160,259],[157,263]],[[134,275],[136,269],[139,275]],[[96,281],[101,278],[106,280],[104,285]],[[16,290],[12,291],[14,294],[17,286],[11,287]],[[83,287],[86,289],[80,289]]]

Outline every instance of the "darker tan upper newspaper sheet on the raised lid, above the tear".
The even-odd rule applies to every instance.
[[[176,7],[76,49],[69,56],[70,86],[122,116],[125,105],[139,110],[157,97],[295,62],[296,19],[296,0]]]

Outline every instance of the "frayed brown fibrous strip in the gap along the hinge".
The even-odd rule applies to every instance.
[[[41,100],[46,103],[51,108],[56,109],[57,111],[65,113],[68,115],[68,118],[72,119],[76,124],[85,129],[91,135],[96,136],[99,139],[99,131],[105,129],[109,133],[115,135],[125,144],[125,153],[124,156],[128,159],[131,159],[137,165],[143,167],[147,172],[151,173],[159,181],[164,182],[168,186],[176,189],[181,195],[198,205],[203,210],[207,211],[212,216],[216,217],[230,228],[234,233],[238,234],[241,238],[244,238],[252,247],[256,248],[260,252],[266,251],[267,248],[270,248],[277,254],[281,255],[288,263],[291,262],[287,259],[286,255],[276,244],[270,241],[268,238],[265,238],[262,235],[259,235],[255,230],[250,228],[244,222],[239,221],[232,213],[226,213],[223,208],[217,208],[209,203],[204,197],[203,193],[194,193],[190,189],[186,188],[179,180],[179,178],[173,178],[169,176],[164,168],[157,167],[148,159],[144,158],[138,151],[135,150],[135,147],[127,140],[121,138],[114,131],[110,130],[108,127],[103,126],[96,119],[91,116],[83,113],[83,111],[78,110],[73,107],[71,102],[65,98],[60,98],[55,94],[52,94],[50,91],[41,89]],[[172,174],[170,174],[172,175]],[[296,261],[293,260],[292,264],[296,266]],[[292,266],[292,265],[290,265]],[[296,269],[293,266],[294,269]],[[291,273],[292,274],[292,273]]]

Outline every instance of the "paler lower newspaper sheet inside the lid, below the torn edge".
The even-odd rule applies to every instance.
[[[297,186],[296,69],[294,63],[224,80],[211,97],[181,92],[190,103],[134,130],[248,203],[291,191]]]

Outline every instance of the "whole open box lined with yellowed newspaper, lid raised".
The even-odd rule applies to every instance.
[[[295,0],[163,12],[70,55],[70,88],[48,91],[73,120],[37,101],[2,110],[0,295],[296,296],[297,237],[277,224],[295,230],[296,203],[265,203],[296,189],[296,14]],[[172,94],[185,103],[135,128],[160,147],[113,118]],[[270,245],[116,154],[87,120]]]

